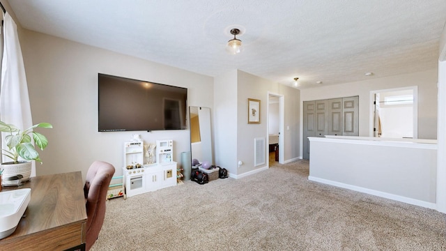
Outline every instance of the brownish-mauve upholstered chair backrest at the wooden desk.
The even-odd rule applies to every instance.
[[[86,250],[98,239],[105,218],[107,190],[115,172],[114,166],[107,162],[95,161],[89,167],[84,185],[86,199]]]

